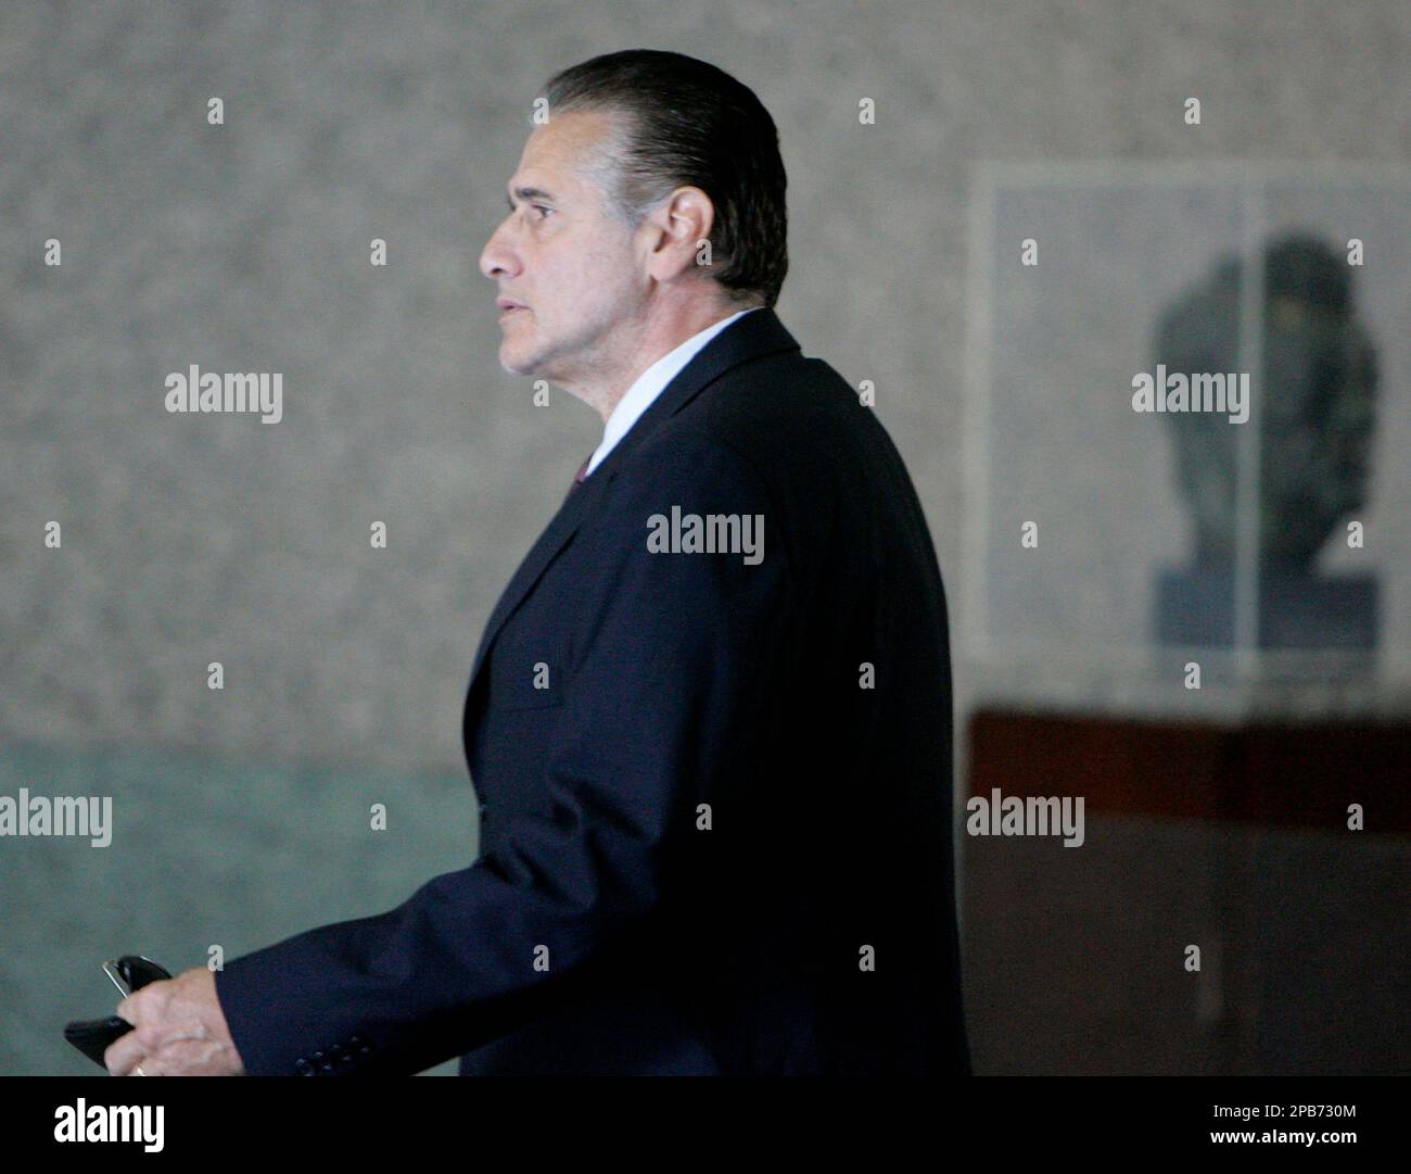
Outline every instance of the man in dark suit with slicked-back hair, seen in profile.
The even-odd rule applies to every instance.
[[[214,998],[128,996],[113,1071],[969,1072],[940,570],[890,437],[775,315],[773,123],[650,51],[549,109],[481,270],[501,363],[604,439],[476,655],[481,854]]]

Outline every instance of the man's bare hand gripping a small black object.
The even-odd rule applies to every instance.
[[[216,975],[206,967],[192,967],[134,991],[117,1005],[117,1013],[133,1030],[103,1053],[103,1063],[114,1077],[246,1074],[216,998]],[[138,1065],[141,1072],[135,1071]]]

